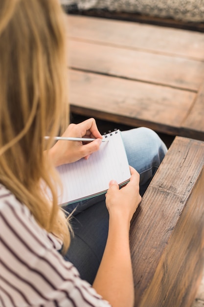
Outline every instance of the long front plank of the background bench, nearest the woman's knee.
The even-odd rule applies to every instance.
[[[69,70],[72,112],[129,126],[177,134],[196,94]]]

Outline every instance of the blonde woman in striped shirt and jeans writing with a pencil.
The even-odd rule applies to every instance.
[[[69,125],[64,136],[96,140],[51,147],[66,123],[63,20],[58,0],[0,1],[0,306],[131,307],[129,228],[141,200],[137,171],[143,194],[166,147],[149,129],[122,133],[137,171],[130,167],[130,182],[120,190],[112,180],[106,201],[76,204],[70,245],[70,223],[57,204],[55,166],[89,158],[102,136],[89,119]],[[90,276],[86,261],[95,253],[98,262]]]

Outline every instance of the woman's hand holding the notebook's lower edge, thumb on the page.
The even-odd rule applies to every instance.
[[[130,166],[131,178],[126,186],[119,189],[115,180],[109,183],[109,189],[106,194],[106,206],[110,218],[122,218],[123,221],[130,222],[137,206],[141,202],[139,195],[139,174]]]

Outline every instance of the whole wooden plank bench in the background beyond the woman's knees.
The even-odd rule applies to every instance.
[[[72,113],[204,140],[204,33],[68,15]]]

